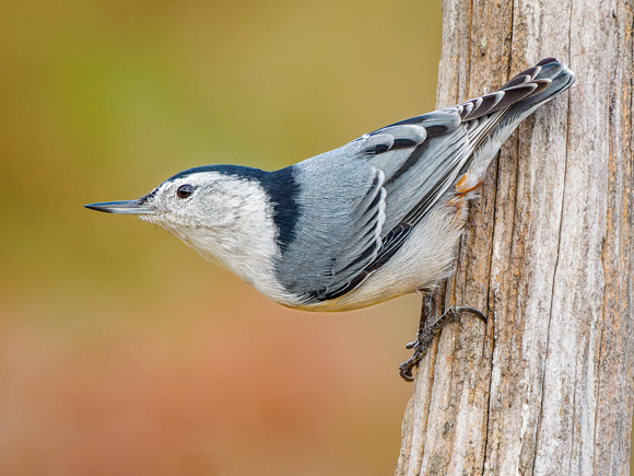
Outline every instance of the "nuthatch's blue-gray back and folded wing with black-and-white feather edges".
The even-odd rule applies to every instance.
[[[280,281],[306,303],[356,288],[401,247],[509,106],[550,84],[540,70],[538,65],[501,91],[392,124],[294,165],[300,213],[278,263]]]

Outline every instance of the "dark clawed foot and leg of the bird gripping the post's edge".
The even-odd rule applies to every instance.
[[[427,324],[427,321],[433,314],[434,310],[434,295],[433,293],[426,293],[423,299],[423,306],[421,310],[421,322],[419,324],[419,330],[416,333],[416,340],[406,345],[408,349],[414,349],[412,357],[402,362],[399,365],[399,373],[406,382],[412,382],[414,380],[412,375],[413,368],[421,361],[423,357],[427,353],[427,349],[432,344],[432,339],[443,326],[449,322],[454,322],[460,317],[462,313],[469,313],[476,317],[481,318],[486,322],[486,316],[480,311],[473,307],[458,306],[447,309],[434,322]]]

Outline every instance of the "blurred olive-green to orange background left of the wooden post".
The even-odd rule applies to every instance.
[[[82,204],[433,109],[436,0],[0,9],[0,474],[385,475],[420,300],[309,314]]]

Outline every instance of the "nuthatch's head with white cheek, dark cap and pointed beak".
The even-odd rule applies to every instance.
[[[225,256],[274,241],[270,204],[258,179],[261,174],[266,173],[230,165],[189,169],[137,200],[85,207],[139,216],[174,233],[206,258],[226,265]]]

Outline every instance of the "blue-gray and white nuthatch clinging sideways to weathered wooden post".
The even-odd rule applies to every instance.
[[[267,172],[196,166],[136,200],[85,207],[133,214],[172,232],[270,300],[336,312],[423,292],[451,276],[469,202],[502,143],[575,74],[545,58],[497,91],[365,133]],[[447,310],[408,345],[412,369]]]

